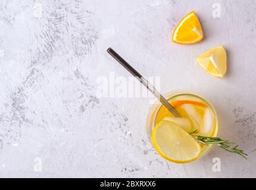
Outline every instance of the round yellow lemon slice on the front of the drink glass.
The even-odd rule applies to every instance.
[[[155,126],[152,143],[160,156],[175,163],[192,162],[201,153],[196,140],[173,122],[162,121]]]

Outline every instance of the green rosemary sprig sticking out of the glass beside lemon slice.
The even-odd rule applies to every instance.
[[[195,138],[195,140],[198,141],[199,143],[207,145],[207,146],[209,144],[217,144],[220,148],[223,148],[224,150],[227,150],[231,153],[239,154],[240,156],[247,159],[246,156],[248,156],[248,155],[245,154],[243,152],[243,150],[238,149],[237,148],[238,145],[236,145],[235,143],[229,142],[227,140],[222,140],[219,137],[204,137],[204,136],[201,136],[201,135],[193,135],[193,134],[196,134],[196,133],[198,133],[197,129],[195,131],[190,132],[189,134],[191,134]],[[232,147],[231,146],[232,144],[235,144],[235,146]]]

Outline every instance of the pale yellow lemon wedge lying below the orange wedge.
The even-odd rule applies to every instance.
[[[224,77],[227,71],[227,55],[223,46],[202,53],[196,61],[205,71],[215,77]]]

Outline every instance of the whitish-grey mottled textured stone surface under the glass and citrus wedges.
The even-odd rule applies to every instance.
[[[215,2],[1,0],[0,176],[255,177],[256,4],[218,1],[221,17],[214,18]],[[172,43],[174,26],[192,10],[205,39]],[[223,79],[195,63],[218,45],[228,52]],[[148,98],[95,96],[98,77],[130,76],[107,55],[110,46],[145,76],[161,77],[163,93],[207,97],[220,137],[237,142],[248,160],[218,147],[189,164],[158,156],[146,137]],[[214,157],[221,172],[212,170]]]

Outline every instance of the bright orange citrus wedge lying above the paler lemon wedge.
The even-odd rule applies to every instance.
[[[192,44],[200,42],[204,32],[195,12],[189,12],[173,31],[172,41],[180,44]]]

